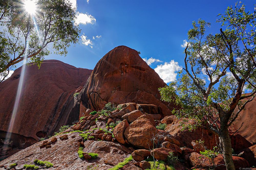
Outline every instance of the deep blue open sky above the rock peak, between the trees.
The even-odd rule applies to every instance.
[[[57,59],[75,67],[93,69],[108,51],[125,45],[141,52],[142,58],[154,58],[150,67],[170,62],[184,66],[183,40],[191,23],[198,18],[211,22],[208,33],[218,33],[217,15],[237,1],[146,1],[146,0],[70,0],[87,19],[80,23],[79,44],[68,48],[66,57],[50,54],[45,59]],[[247,10],[254,10],[253,1],[242,1]],[[86,41],[84,43],[82,40]],[[98,36],[99,38],[96,38]],[[93,39],[93,37],[95,39]],[[90,41],[88,41],[90,40]],[[92,48],[91,48],[92,47]],[[177,62],[177,63],[176,63]],[[169,79],[170,80],[170,79]]]

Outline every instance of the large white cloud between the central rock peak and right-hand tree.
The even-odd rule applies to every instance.
[[[172,60],[170,62],[165,62],[164,64],[158,65],[154,70],[165,83],[169,83],[176,80],[176,72],[180,71],[181,69],[182,67],[179,66],[179,63]]]

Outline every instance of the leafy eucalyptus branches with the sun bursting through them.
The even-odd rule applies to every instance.
[[[75,18],[68,0],[0,0],[0,80],[25,58],[40,68],[52,51],[66,56],[79,38]]]

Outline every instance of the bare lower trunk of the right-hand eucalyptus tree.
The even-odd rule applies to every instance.
[[[231,139],[228,133],[228,127],[224,126],[220,128],[220,143],[223,151],[224,161],[226,164],[227,170],[235,170],[235,166],[232,159],[232,147],[231,147]]]

